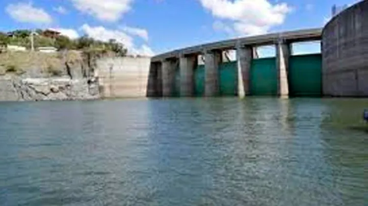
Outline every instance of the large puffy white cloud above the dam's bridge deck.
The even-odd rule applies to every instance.
[[[287,3],[271,4],[268,0],[200,0],[202,6],[222,20],[230,20],[235,34],[255,35],[284,23],[291,11]],[[229,26],[225,26],[229,30]]]

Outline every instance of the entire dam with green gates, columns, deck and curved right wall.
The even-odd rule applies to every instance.
[[[147,97],[367,97],[368,1],[334,16],[323,28],[208,43],[151,58]],[[292,55],[292,44],[320,41],[320,53]],[[255,58],[273,45],[275,57]],[[235,61],[224,52],[236,51]],[[200,65],[198,56],[203,57]]]

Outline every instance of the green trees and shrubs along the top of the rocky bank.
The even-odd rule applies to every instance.
[[[78,39],[70,39],[67,36],[58,35],[55,38],[43,35],[43,30],[36,29],[33,36],[34,48],[55,47],[58,50],[79,50],[84,52],[101,51],[113,52],[117,56],[124,56],[127,49],[124,45],[111,39],[108,42],[95,40],[88,36],[81,36]],[[31,30],[19,29],[11,32],[0,32],[0,46],[16,45],[31,48]]]

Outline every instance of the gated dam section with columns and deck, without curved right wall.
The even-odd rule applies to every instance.
[[[290,54],[292,43],[321,40],[321,31],[247,37],[155,56],[148,96],[320,96],[321,54]],[[270,44],[276,57],[254,58],[255,47]],[[237,60],[224,62],[226,50],[236,50]],[[198,55],[204,56],[204,65],[198,65]]]

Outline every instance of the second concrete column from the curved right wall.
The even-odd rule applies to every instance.
[[[249,74],[253,58],[252,47],[237,48],[237,95],[244,98],[250,93]]]

